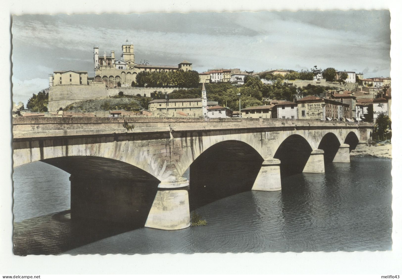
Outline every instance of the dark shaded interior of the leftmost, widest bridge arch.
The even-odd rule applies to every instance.
[[[160,183],[150,173],[104,157],[68,156],[40,161],[70,174],[72,222],[86,224],[88,220],[107,226],[119,223],[127,229],[144,227]],[[48,187],[66,195],[65,188]]]

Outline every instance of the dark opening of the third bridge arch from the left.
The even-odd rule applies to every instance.
[[[298,134],[288,136],[274,155],[275,159],[281,160],[281,176],[303,172],[312,151],[304,137]]]

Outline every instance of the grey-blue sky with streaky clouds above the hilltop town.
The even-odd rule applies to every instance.
[[[192,12],[12,16],[13,101],[27,103],[48,87],[53,71],[88,71],[93,46],[121,54],[126,39],[135,62],[193,63],[213,68],[325,69],[390,76],[388,10]]]

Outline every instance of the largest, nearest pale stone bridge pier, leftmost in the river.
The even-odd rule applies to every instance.
[[[190,226],[189,181],[170,176],[158,185],[145,226],[161,230],[179,230]]]

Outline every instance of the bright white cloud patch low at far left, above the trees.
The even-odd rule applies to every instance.
[[[27,105],[27,101],[32,94],[49,87],[49,79],[27,79],[19,80],[12,77],[12,100],[13,102],[23,102]]]

